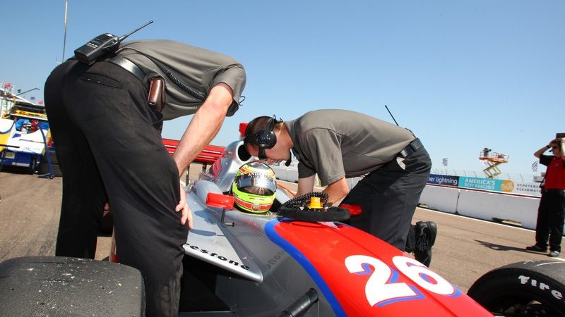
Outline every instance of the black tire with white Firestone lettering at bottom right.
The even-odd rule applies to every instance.
[[[565,316],[565,262],[496,268],[476,280],[468,295],[496,316]]]

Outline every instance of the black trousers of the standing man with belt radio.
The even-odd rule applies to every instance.
[[[93,259],[109,201],[120,263],[145,280],[148,316],[177,316],[188,228],[174,211],[177,165],[162,144],[148,87],[105,61],[66,61],[45,83],[45,108],[63,173],[57,256]]]

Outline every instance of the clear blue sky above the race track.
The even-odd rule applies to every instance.
[[[244,106],[213,144],[256,116],[286,120],[345,108],[422,139],[434,168],[484,168],[531,180],[533,152],[565,132],[565,1],[68,1],[64,57],[103,32],[174,39],[233,56],[247,73]],[[2,1],[0,81],[43,98],[61,62],[64,0]],[[190,117],[165,123],[179,139]],[[538,168],[537,173],[545,170]]]

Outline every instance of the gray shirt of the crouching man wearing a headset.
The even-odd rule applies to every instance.
[[[376,170],[415,139],[405,128],[346,110],[310,111],[285,128],[299,160],[298,177],[318,173],[322,185]]]

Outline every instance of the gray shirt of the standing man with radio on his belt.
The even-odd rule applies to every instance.
[[[200,92],[202,97],[208,96],[212,87],[224,82],[234,92],[227,116],[232,116],[239,108],[239,97],[245,87],[245,70],[230,56],[165,39],[124,42],[117,52],[145,71],[147,80],[153,77],[165,79],[165,108],[162,110],[165,120],[194,114],[203,103],[167,77],[167,71],[184,85]]]

